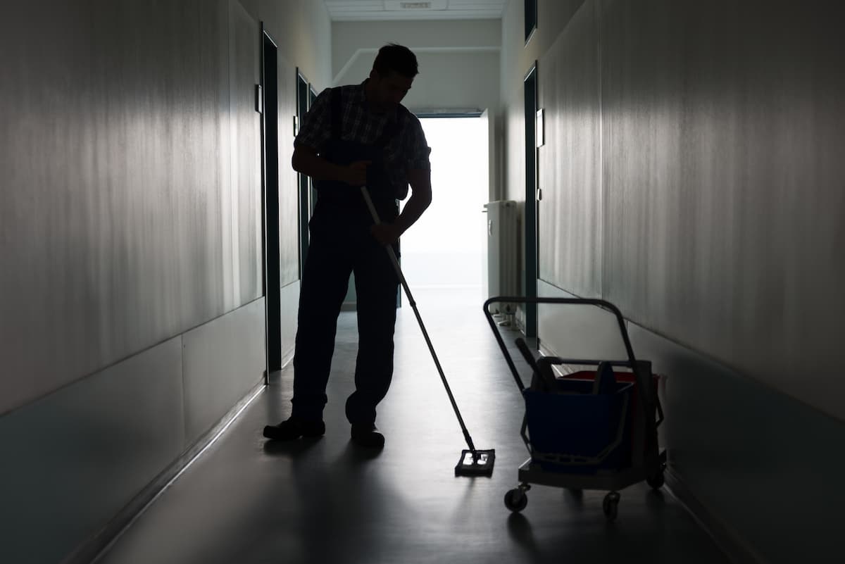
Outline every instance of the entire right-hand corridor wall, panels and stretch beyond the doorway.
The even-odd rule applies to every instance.
[[[837,561],[838,8],[564,4],[540,2],[527,45],[521,3],[503,21],[508,198],[525,199],[521,79],[535,59],[545,112],[540,291],[628,317],[667,376],[675,491],[734,554]],[[539,337],[557,351],[564,313],[551,315]]]

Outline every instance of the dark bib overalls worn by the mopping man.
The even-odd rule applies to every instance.
[[[320,156],[335,165],[372,161],[367,167],[368,191],[379,218],[393,221],[399,209],[384,170],[384,147],[398,133],[398,120],[388,123],[374,144],[365,145],[341,139],[341,111],[337,88],[331,98],[332,135]],[[373,219],[360,187],[326,181],[314,181],[314,187],[317,204],[308,223],[311,239],[299,296],[292,415],[307,420],[323,417],[337,317],[354,272],[358,352],[355,392],[346,400],[346,418],[354,425],[369,425],[393,377],[399,279],[384,247],[370,233]],[[398,256],[398,244],[394,250]]]

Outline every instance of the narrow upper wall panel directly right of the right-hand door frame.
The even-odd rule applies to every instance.
[[[598,19],[590,3],[540,59],[539,278],[578,296],[601,294],[602,144]],[[538,133],[539,134],[539,133]]]

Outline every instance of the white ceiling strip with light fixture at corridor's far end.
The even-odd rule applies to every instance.
[[[324,0],[332,21],[499,19],[510,0]]]

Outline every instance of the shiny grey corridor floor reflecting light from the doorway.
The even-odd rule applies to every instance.
[[[504,493],[527,458],[523,405],[482,300],[473,290],[415,297],[476,446],[496,449],[492,478],[454,475],[465,444],[410,307],[400,310],[394,382],[379,406],[384,450],[353,447],[343,405],[355,314],[344,312],[325,437],[277,445],[261,436],[290,412],[287,367],[98,562],[728,562],[668,491],[645,484],[621,492],[615,523],[600,491],[535,485],[526,509],[511,513]]]

